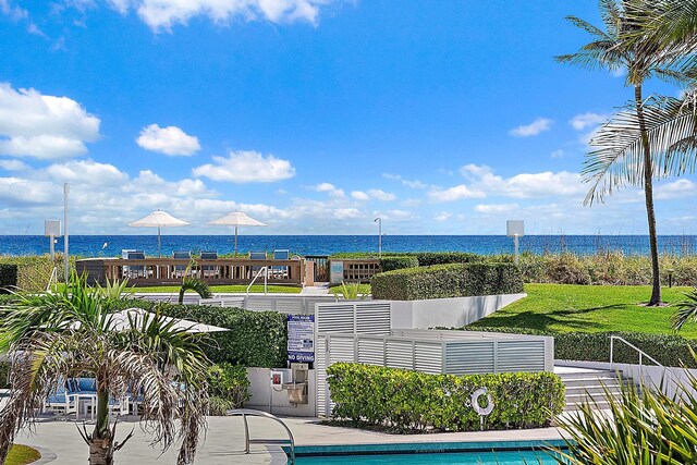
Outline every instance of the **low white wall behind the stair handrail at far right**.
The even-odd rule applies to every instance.
[[[658,390],[663,382],[662,391],[673,396],[675,393],[684,393],[685,389],[697,395],[697,392],[690,388],[689,377],[697,377],[697,369],[685,369],[677,367],[657,367],[653,365],[631,365],[631,364],[613,364],[607,362],[585,362],[585,360],[554,360],[554,365],[578,368],[592,368],[602,370],[619,370],[627,378],[635,382],[639,380],[646,387],[652,387]],[[682,386],[683,389],[677,389]]]

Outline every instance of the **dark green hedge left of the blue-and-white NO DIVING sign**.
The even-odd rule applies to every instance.
[[[139,307],[154,310],[156,304],[147,301],[121,301],[113,309]],[[213,344],[206,355],[218,364],[228,362],[246,367],[285,367],[288,362],[286,315],[278,311],[247,311],[233,307],[208,305],[159,304],[163,315],[185,318],[206,325],[229,328],[230,331],[211,334]]]

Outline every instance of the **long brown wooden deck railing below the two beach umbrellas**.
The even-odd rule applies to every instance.
[[[84,259],[75,262],[78,273],[86,273],[89,282],[105,284],[106,280],[129,279],[135,286],[178,285],[184,274],[196,277],[211,285],[248,284],[254,276],[268,267],[270,284],[302,285],[305,272],[305,260],[249,260],[240,258],[219,258],[203,260],[200,258],[146,258],[134,259]]]

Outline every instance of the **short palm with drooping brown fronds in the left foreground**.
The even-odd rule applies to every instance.
[[[10,399],[0,411],[0,464],[47,396],[82,374],[97,381],[97,421],[91,432],[81,431],[90,464],[112,464],[113,453],[131,437],[118,442],[117,423],[109,424],[109,399],[122,397],[127,389],[142,396],[154,442],[164,451],[182,440],[178,464],[194,460],[208,404],[201,335],[159,314],[130,317],[130,329],[114,331],[109,294],[119,295],[73,278],[70,292],[21,296],[0,308],[0,353],[12,358]]]

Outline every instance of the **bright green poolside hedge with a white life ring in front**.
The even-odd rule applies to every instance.
[[[565,404],[564,384],[549,372],[458,377],[339,363],[327,375],[334,418],[399,432],[479,430],[470,396],[485,387],[494,404],[487,429],[546,427]]]

